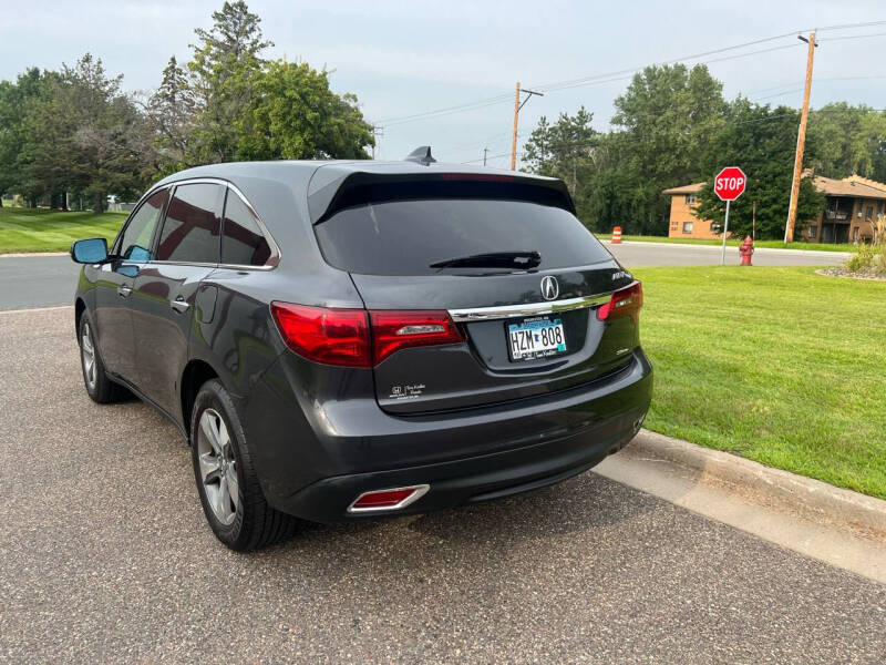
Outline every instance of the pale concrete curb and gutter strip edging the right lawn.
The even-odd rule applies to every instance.
[[[886,501],[641,430],[595,472],[886,584]]]

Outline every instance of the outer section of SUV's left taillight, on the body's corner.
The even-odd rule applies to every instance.
[[[286,344],[299,356],[327,365],[371,367],[365,309],[329,309],[271,303]]]

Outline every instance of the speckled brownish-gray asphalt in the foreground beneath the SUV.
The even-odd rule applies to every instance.
[[[594,473],[229,552],[72,316],[0,314],[0,659],[883,662],[886,587]]]

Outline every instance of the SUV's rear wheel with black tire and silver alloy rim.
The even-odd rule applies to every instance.
[[[225,545],[243,552],[291,535],[296,519],[265,501],[237,409],[218,379],[194,401],[190,458],[206,521]]]

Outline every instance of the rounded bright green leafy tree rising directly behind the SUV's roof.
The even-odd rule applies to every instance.
[[[239,158],[365,160],[374,143],[357,98],[329,89],[329,74],[307,63],[269,62],[258,80]]]

